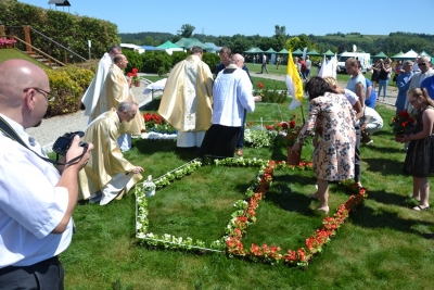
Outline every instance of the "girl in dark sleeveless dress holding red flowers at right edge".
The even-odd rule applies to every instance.
[[[426,89],[410,89],[408,102],[417,110],[412,134],[404,135],[400,142],[410,142],[404,162],[404,173],[413,177],[413,198],[419,201],[414,211],[430,210],[427,175],[434,173],[434,101]]]

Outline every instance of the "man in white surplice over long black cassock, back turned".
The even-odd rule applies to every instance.
[[[233,54],[214,83],[213,125],[206,131],[200,156],[233,157],[245,110],[253,112],[255,101],[260,101],[260,96],[252,94],[253,86],[243,65],[244,58]]]

